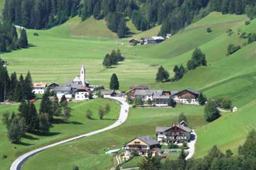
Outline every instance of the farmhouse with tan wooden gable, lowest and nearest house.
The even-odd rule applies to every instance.
[[[153,148],[158,148],[159,142],[150,136],[139,136],[125,144],[128,152],[137,151],[140,155],[146,155]]]

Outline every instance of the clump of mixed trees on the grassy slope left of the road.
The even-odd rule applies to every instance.
[[[48,133],[54,122],[53,116],[60,116],[63,121],[67,121],[70,117],[70,108],[65,96],[59,102],[56,94],[47,90],[40,103],[39,114],[33,102],[23,100],[18,113],[5,112],[2,122],[8,130],[9,140],[12,143],[20,143],[26,132]]]

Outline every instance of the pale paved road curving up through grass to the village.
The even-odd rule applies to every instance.
[[[126,103],[125,98],[122,98],[122,97],[108,97],[108,98],[116,100],[116,101],[118,101],[121,104],[120,115],[119,115],[118,120],[115,123],[111,124],[108,127],[103,128],[103,129],[99,129],[99,130],[96,130],[96,131],[93,131],[93,132],[90,132],[90,133],[86,133],[86,134],[83,134],[83,135],[80,135],[80,136],[76,136],[76,137],[73,137],[73,138],[70,138],[70,139],[66,139],[66,140],[63,140],[63,141],[60,141],[60,142],[57,142],[57,143],[53,143],[51,145],[47,145],[47,146],[41,147],[39,149],[35,149],[35,150],[30,151],[28,153],[25,153],[24,155],[20,156],[19,158],[17,158],[12,163],[10,170],[21,170],[22,164],[29,157],[31,157],[31,156],[33,156],[33,155],[35,155],[35,154],[37,154],[37,153],[39,153],[39,152],[41,152],[41,151],[43,151],[45,149],[48,149],[48,148],[51,148],[53,146],[57,146],[57,145],[60,145],[60,144],[63,144],[63,143],[67,143],[67,142],[70,142],[70,141],[73,141],[73,140],[77,140],[77,139],[80,139],[80,138],[92,136],[92,135],[95,135],[97,133],[101,133],[101,132],[113,129],[113,128],[117,127],[117,126],[120,126],[122,123],[125,122],[125,120],[128,117],[129,105],[128,105],[128,103]],[[125,110],[127,110],[127,112]]]

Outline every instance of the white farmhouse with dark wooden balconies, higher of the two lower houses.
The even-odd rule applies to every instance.
[[[173,126],[157,126],[157,141],[163,142],[163,139],[165,139],[168,143],[177,144],[190,140],[191,129],[183,126],[183,123]]]

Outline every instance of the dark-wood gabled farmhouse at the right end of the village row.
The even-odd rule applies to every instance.
[[[173,99],[179,103],[198,104],[199,92],[190,88],[172,94]]]

